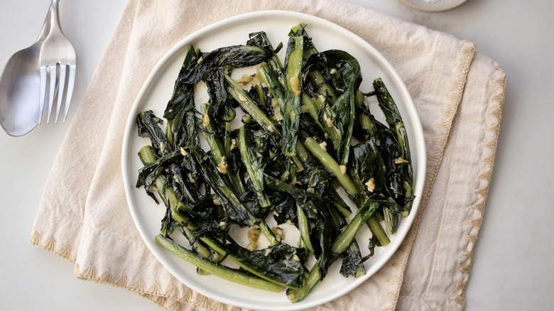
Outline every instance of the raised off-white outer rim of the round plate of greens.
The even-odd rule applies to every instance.
[[[384,66],[384,69],[386,69],[386,71],[387,71],[386,73],[388,75],[391,75],[391,77],[393,77],[393,79],[396,80],[395,82],[398,84],[398,88],[399,88],[398,90],[403,95],[403,106],[406,109],[406,111],[408,111],[408,116],[410,117],[410,122],[413,126],[413,129],[415,129],[415,131],[413,133],[413,136],[415,136],[416,139],[415,139],[415,142],[413,142],[413,143],[411,142],[411,145],[412,144],[414,146],[416,144],[418,145],[418,147],[417,147],[417,150],[418,150],[418,161],[417,161],[418,171],[417,171],[417,174],[414,175],[414,185],[415,185],[414,186],[414,189],[415,189],[414,195],[416,195],[415,200],[414,200],[414,204],[413,204],[414,208],[412,209],[410,216],[408,216],[407,218],[402,219],[402,222],[407,222],[408,224],[406,224],[406,226],[403,227],[403,231],[396,232],[395,235],[397,236],[396,239],[398,239],[398,242],[396,242],[396,244],[394,244],[394,245],[389,244],[389,246],[386,246],[386,248],[387,248],[387,250],[390,254],[388,256],[385,256],[386,258],[384,260],[381,260],[381,261],[378,261],[378,262],[374,263],[374,265],[372,266],[372,269],[374,270],[373,273],[371,273],[369,275],[366,274],[366,275],[363,275],[362,277],[359,277],[358,278],[359,280],[357,280],[357,282],[353,282],[354,283],[353,285],[346,286],[346,288],[347,288],[346,290],[340,290],[335,294],[328,295],[325,299],[315,300],[315,301],[311,301],[311,302],[305,302],[305,300],[303,300],[303,302],[291,303],[290,305],[288,305],[286,307],[282,307],[282,306],[271,307],[271,306],[267,306],[267,305],[266,306],[251,305],[249,302],[240,302],[239,300],[229,300],[227,298],[221,297],[220,295],[217,295],[217,294],[214,295],[214,293],[207,293],[202,288],[198,288],[194,283],[192,283],[192,285],[191,285],[190,282],[187,283],[184,280],[182,280],[180,278],[180,276],[178,276],[179,275],[178,271],[176,271],[173,268],[173,266],[168,265],[167,262],[165,261],[165,258],[163,258],[157,251],[154,251],[154,249],[155,248],[157,249],[158,246],[153,241],[153,236],[146,236],[146,232],[144,232],[144,230],[139,227],[139,224],[141,224],[142,221],[141,221],[141,219],[139,219],[139,215],[136,214],[136,211],[132,206],[133,204],[131,204],[131,202],[134,201],[134,198],[131,195],[131,190],[132,190],[132,188],[134,188],[134,182],[131,182],[131,180],[129,180],[129,173],[130,172],[127,169],[127,168],[129,168],[128,159],[129,159],[129,155],[130,155],[131,150],[130,150],[130,148],[126,148],[127,146],[130,145],[131,138],[133,137],[132,135],[134,135],[133,129],[134,129],[134,126],[135,126],[136,114],[139,112],[139,107],[140,107],[141,102],[143,101],[143,97],[145,97],[146,94],[148,94],[149,85],[161,73],[161,70],[163,70],[165,64],[169,60],[171,60],[171,58],[174,57],[175,53],[179,53],[180,50],[182,50],[183,48],[188,46],[190,43],[194,42],[194,40],[199,38],[199,36],[202,36],[202,34],[210,33],[211,31],[214,31],[219,27],[222,27],[222,26],[225,26],[225,25],[231,24],[231,23],[240,22],[240,21],[245,22],[245,21],[248,21],[248,20],[251,20],[251,19],[261,18],[261,17],[264,17],[264,16],[275,17],[276,15],[282,16],[282,17],[287,17],[287,18],[298,18],[298,19],[301,19],[301,20],[303,19],[303,20],[307,20],[307,21],[310,21],[310,20],[311,21],[317,21],[317,23],[320,23],[321,25],[323,25],[325,27],[330,27],[330,28],[332,28],[336,31],[340,31],[342,33],[347,33],[347,35],[349,37],[351,37],[354,40],[357,40],[357,44],[363,45],[364,49],[369,50],[371,52],[371,55],[379,60],[380,65]],[[403,116],[403,117],[405,117],[405,116]],[[423,195],[423,186],[425,184],[426,151],[425,151],[425,140],[424,140],[424,136],[423,136],[423,128],[421,126],[420,118],[417,114],[417,111],[415,110],[415,105],[413,103],[413,99],[412,99],[410,93],[408,92],[408,89],[407,89],[406,85],[404,84],[403,80],[398,75],[396,70],[394,70],[394,68],[389,63],[389,61],[386,60],[386,58],[384,58],[384,56],[381,55],[381,53],[379,53],[379,51],[376,50],[376,48],[374,48],[366,40],[359,37],[356,33],[353,33],[352,31],[349,31],[347,28],[344,28],[344,27],[338,25],[337,23],[333,23],[332,21],[328,21],[325,18],[320,18],[318,16],[313,16],[313,15],[310,15],[310,14],[307,14],[307,13],[300,13],[300,12],[296,12],[296,11],[286,11],[286,10],[253,11],[253,12],[249,12],[249,13],[239,14],[237,16],[232,16],[232,17],[229,17],[229,18],[224,18],[221,21],[217,21],[217,22],[212,23],[208,26],[205,26],[204,28],[200,28],[199,30],[194,31],[193,33],[190,33],[188,36],[186,36],[185,38],[180,40],[178,43],[173,45],[173,47],[170,48],[163,55],[163,57],[160,60],[158,60],[156,65],[153,67],[153,69],[149,73],[149,75],[148,75],[147,79],[145,80],[145,82],[143,82],[141,90],[140,90],[139,94],[137,95],[137,97],[136,97],[136,99],[135,99],[135,101],[134,101],[134,103],[133,103],[133,105],[132,105],[132,107],[129,111],[129,116],[127,117],[125,131],[124,131],[124,138],[123,138],[121,148],[122,148],[122,150],[121,150],[121,168],[122,168],[122,175],[123,175],[123,179],[124,179],[124,190],[125,190],[125,195],[126,195],[126,202],[128,204],[129,211],[131,213],[131,217],[134,220],[134,224],[136,226],[136,229],[139,231],[139,234],[141,235],[141,238],[145,242],[146,246],[148,247],[148,250],[151,251],[151,253],[153,253],[153,255],[156,257],[156,259],[162,264],[162,266],[166,270],[168,270],[170,272],[171,275],[173,275],[177,280],[179,280],[181,283],[183,283],[188,288],[191,288],[192,290],[195,290],[197,293],[205,295],[208,298],[212,298],[214,300],[226,303],[228,305],[234,305],[234,306],[237,306],[237,307],[247,307],[247,308],[256,309],[256,310],[299,310],[299,309],[304,309],[304,308],[308,308],[308,307],[315,307],[317,305],[322,305],[325,302],[329,302],[331,300],[335,300],[337,298],[340,298],[342,295],[346,295],[350,291],[354,290],[354,288],[357,288],[357,286],[364,283],[368,278],[371,278],[372,275],[377,273],[377,271],[381,270],[381,268],[385,265],[385,263],[387,263],[390,260],[390,258],[398,251],[399,246],[401,244],[403,244],[404,239],[406,239],[408,231],[412,227],[413,221],[415,219],[415,215],[418,214],[418,209],[420,207],[421,196]],[[413,147],[411,147],[411,148],[413,148]]]

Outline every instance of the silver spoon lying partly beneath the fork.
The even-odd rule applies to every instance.
[[[50,31],[50,12],[36,42],[6,63],[0,77],[0,125],[11,136],[28,133],[38,124],[40,48]]]

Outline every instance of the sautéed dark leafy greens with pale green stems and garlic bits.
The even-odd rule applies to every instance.
[[[282,46],[273,48],[263,31],[246,45],[208,53],[191,45],[165,125],[153,111],[136,117],[139,136],[151,141],[139,151],[144,167],[136,186],[165,204],[158,244],[198,273],[275,292],[284,287],[298,302],[339,258],[344,277],[364,275],[364,261],[389,244],[411,210],[413,176],[406,128],[381,79],[371,92],[359,90],[358,61],[342,50],[317,51],[303,25],[288,34],[284,62]],[[251,66],[253,75],[231,77]],[[197,109],[199,83],[209,100]],[[386,124],[366,97],[378,99]],[[241,125],[233,128],[233,121]],[[266,222],[271,217],[298,228],[298,244],[286,244],[287,232]],[[363,241],[368,256],[356,239],[364,225],[372,234]],[[233,226],[249,228],[248,246],[232,239]],[[260,235],[267,248],[258,246]]]

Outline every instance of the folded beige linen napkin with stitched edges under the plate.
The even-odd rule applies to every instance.
[[[121,143],[143,82],[173,45],[210,23],[267,9],[320,16],[373,45],[406,83],[425,132],[428,174],[406,240],[364,284],[314,310],[462,309],[505,74],[470,42],[340,1],[129,0],[55,160],[31,243],[75,263],[77,278],[168,310],[238,310],[194,293],[146,248],[126,204]]]

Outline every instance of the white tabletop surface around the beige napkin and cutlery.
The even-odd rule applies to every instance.
[[[469,0],[422,13],[393,0],[351,1],[470,40],[504,67],[506,101],[466,308],[553,310],[554,2]],[[79,60],[68,122],[18,138],[0,131],[0,310],[161,310],[127,290],[78,280],[71,263],[29,243],[51,165],[124,4],[61,1],[61,23]],[[1,66],[36,40],[48,6],[0,1]]]

